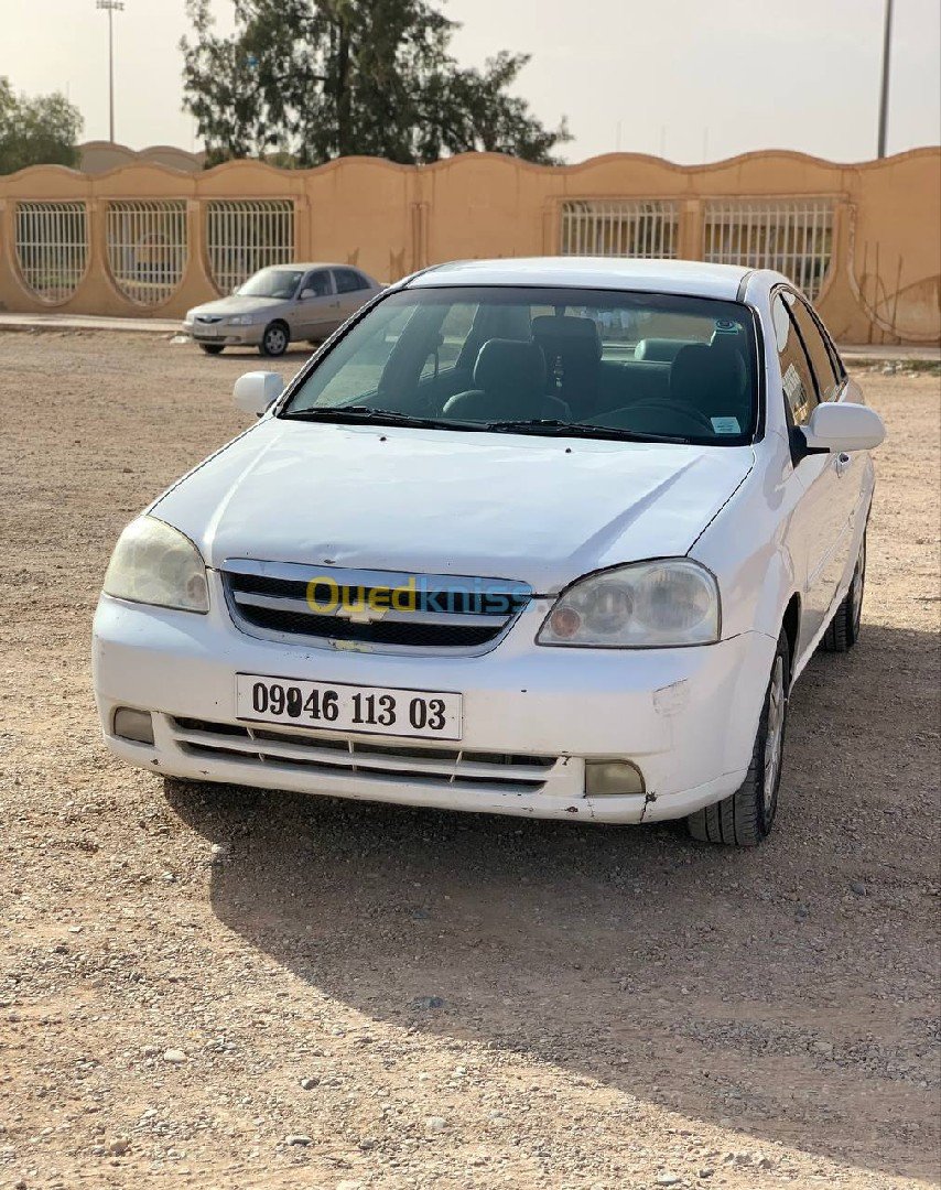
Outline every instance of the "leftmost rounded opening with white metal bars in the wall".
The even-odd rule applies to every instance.
[[[18,202],[15,251],[20,276],[40,301],[67,301],[88,264],[84,202]]]

